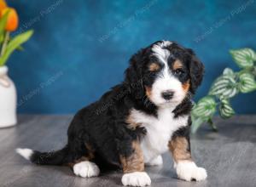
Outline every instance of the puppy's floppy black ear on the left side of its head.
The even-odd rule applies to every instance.
[[[129,67],[125,70],[125,83],[136,99],[143,99],[144,96],[143,64],[145,51],[146,49],[143,48],[134,54],[130,59]]]

